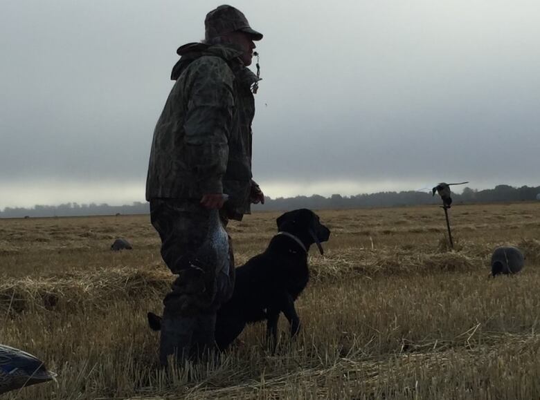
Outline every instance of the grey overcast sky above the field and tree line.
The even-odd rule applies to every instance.
[[[219,4],[1,0],[0,209],[144,201],[176,49]],[[230,4],[264,34],[268,196],[540,184],[539,1]]]

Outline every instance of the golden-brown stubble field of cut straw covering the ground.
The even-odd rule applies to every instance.
[[[172,280],[148,216],[0,220],[0,343],[58,374],[5,398],[540,398],[539,203],[453,207],[456,251],[438,207],[318,214],[332,235],[325,256],[311,252],[298,340],[280,321],[271,355],[252,325],[218,363],[170,377],[146,322]],[[266,247],[278,215],[231,223],[237,264]],[[110,251],[118,237],[134,249]],[[488,278],[505,244],[525,269]]]

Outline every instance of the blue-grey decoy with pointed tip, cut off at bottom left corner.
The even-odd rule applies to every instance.
[[[55,380],[55,376],[32,354],[0,345],[0,394]]]

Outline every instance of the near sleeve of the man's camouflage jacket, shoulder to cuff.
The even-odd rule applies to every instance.
[[[186,82],[186,156],[202,193],[222,193],[233,120],[234,75],[218,57],[204,57],[193,67]]]

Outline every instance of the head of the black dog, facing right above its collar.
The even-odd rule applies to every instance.
[[[316,244],[318,251],[324,253],[321,242],[330,238],[330,229],[321,224],[318,215],[309,209],[297,209],[282,214],[276,220],[278,231],[297,236],[307,247]]]

